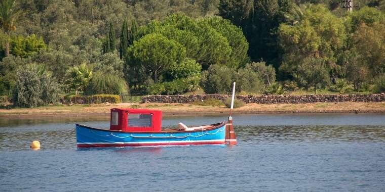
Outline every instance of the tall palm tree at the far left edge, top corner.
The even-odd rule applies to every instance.
[[[7,35],[5,56],[9,56],[10,32],[16,30],[15,21],[20,11],[15,9],[16,0],[2,0],[0,3],[0,26]]]

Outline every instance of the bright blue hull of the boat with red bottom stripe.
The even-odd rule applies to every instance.
[[[76,142],[79,148],[225,144],[225,130],[224,123],[206,130],[161,132],[115,131],[76,124]]]

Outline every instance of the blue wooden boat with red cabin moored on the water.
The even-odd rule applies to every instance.
[[[148,109],[111,109],[110,128],[76,124],[79,148],[235,144],[232,120],[199,127],[162,130],[162,111]]]

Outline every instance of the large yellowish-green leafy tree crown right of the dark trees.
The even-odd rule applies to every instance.
[[[335,52],[345,40],[342,20],[322,5],[305,9],[300,23],[281,24],[278,32],[285,51],[281,69],[289,73],[295,72],[298,63],[307,57],[323,58],[330,65],[335,64]]]

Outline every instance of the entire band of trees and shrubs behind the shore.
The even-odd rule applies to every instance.
[[[6,0],[0,95],[381,92],[384,1]]]

